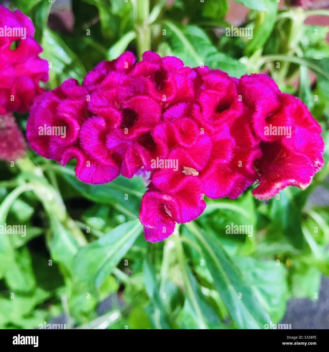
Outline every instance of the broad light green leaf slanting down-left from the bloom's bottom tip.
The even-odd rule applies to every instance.
[[[119,225],[85,247],[74,258],[72,278],[75,289],[97,294],[97,289],[112,273],[142,231],[139,220]]]

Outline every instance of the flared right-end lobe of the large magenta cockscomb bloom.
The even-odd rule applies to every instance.
[[[254,163],[259,186],[253,195],[269,199],[286,186],[305,189],[324,163],[321,126],[298,98],[281,93],[268,76],[242,76],[240,88],[262,151]]]

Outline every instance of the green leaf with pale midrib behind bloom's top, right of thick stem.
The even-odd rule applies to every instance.
[[[194,25],[182,27],[169,20],[163,23],[169,29],[167,37],[172,46],[173,55],[181,58],[186,66],[195,67],[203,63],[234,77],[241,77],[246,73],[245,66],[238,60],[219,52],[200,27]]]

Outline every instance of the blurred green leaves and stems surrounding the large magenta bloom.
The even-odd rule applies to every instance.
[[[61,313],[67,328],[264,328],[280,321],[291,297],[316,300],[329,275],[329,205],[321,199],[329,188],[328,28],[304,25],[310,11],[278,11],[276,0],[238,0],[251,9],[242,24],[253,28],[251,40],[223,34],[226,0],[74,0],[67,33],[46,25],[53,2],[12,4],[33,19],[52,63],[46,88],[81,82],[126,49],[140,56],[150,38],[149,49],[186,65],[235,77],[268,72],[321,123],[326,164],[305,191],[288,187],[268,202],[250,189],[207,200],[197,220],[150,244],[138,220],[142,178],[84,184],[72,165],[31,150],[14,165],[1,162],[0,223],[24,224],[26,236],[0,235],[0,328],[38,327]],[[24,128],[26,115],[17,118]],[[232,223],[252,225],[253,235],[226,234]]]

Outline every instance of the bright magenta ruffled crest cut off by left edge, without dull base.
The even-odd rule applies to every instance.
[[[33,39],[32,21],[19,10],[0,5],[0,114],[26,112],[44,92],[48,62],[39,58],[41,46]]]

